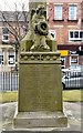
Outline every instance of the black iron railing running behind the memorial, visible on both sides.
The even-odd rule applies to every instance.
[[[82,88],[82,72],[66,72],[62,74],[62,83],[65,88]],[[17,91],[19,89],[19,72],[0,72],[0,91]]]

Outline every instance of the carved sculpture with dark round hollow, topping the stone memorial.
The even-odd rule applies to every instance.
[[[30,3],[30,28],[29,32],[21,41],[21,52],[49,52],[58,50],[55,39],[49,33],[45,6],[45,1],[44,3]]]

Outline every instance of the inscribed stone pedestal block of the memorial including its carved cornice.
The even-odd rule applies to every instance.
[[[19,111],[62,111],[61,62],[55,53],[23,53]]]

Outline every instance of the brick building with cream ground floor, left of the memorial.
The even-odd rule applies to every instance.
[[[25,13],[27,18],[24,18]],[[28,23],[28,12],[0,12],[0,71],[10,71],[15,66],[15,37],[19,31],[19,37],[25,32]],[[3,19],[2,14],[6,19]],[[25,25],[27,24],[27,25]]]

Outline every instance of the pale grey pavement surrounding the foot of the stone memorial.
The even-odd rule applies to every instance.
[[[11,131],[13,130],[13,116],[15,113],[18,103],[0,103],[0,131]],[[81,131],[82,129],[82,110],[83,102],[64,102],[63,111],[68,116],[68,127],[56,129],[56,127],[43,127],[43,129],[28,129],[29,131]]]

